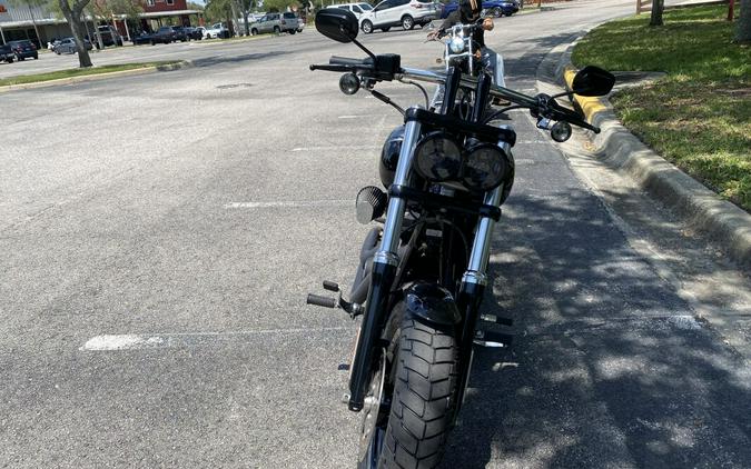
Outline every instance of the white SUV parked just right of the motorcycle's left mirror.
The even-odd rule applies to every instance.
[[[395,26],[409,30],[415,24],[429,23],[439,14],[441,11],[433,0],[384,0],[363,14],[359,27],[365,33],[370,33],[374,29],[386,32]]]

